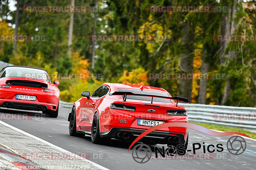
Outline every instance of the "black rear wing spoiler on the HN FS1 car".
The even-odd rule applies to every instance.
[[[133,92],[112,92],[112,93],[109,93],[109,96],[112,96],[112,95],[121,95],[121,96],[124,96],[124,97],[123,97],[123,101],[126,101],[126,96],[127,96],[127,95],[132,95],[132,96],[148,96],[148,97],[152,97],[151,103],[153,103],[153,98],[154,98],[154,97],[164,98],[164,99],[172,99],[172,100],[177,100],[176,106],[178,106],[178,102],[179,102],[179,101],[185,102],[185,103],[188,103],[188,102],[189,102],[188,98],[178,97],[178,96],[166,97],[166,96],[156,96],[156,95],[148,95],[148,94],[136,94],[136,93],[133,93]]]

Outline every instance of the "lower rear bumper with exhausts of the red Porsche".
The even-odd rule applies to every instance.
[[[36,102],[36,103],[29,103],[27,102],[14,102],[12,100],[0,100],[1,107],[5,108],[14,108],[14,109],[22,109],[22,110],[35,110],[35,111],[44,111],[44,110],[57,110],[56,105],[54,104],[46,104],[44,102]]]

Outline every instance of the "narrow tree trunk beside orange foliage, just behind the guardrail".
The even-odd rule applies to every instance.
[[[202,59],[202,66],[201,66],[201,73],[207,73],[209,69],[209,63],[206,63],[204,61],[204,55],[206,55],[206,50],[203,52],[203,59]],[[199,89],[199,94],[198,94],[198,103],[199,104],[205,104],[206,101],[206,85],[207,85],[207,79],[201,79],[200,80],[200,89]]]

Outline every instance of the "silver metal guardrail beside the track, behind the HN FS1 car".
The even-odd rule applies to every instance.
[[[242,128],[256,133],[256,108],[179,103],[188,112],[188,122],[210,123],[230,128]],[[73,103],[60,101],[60,106],[72,108]]]

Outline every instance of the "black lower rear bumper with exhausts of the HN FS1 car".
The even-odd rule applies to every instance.
[[[129,138],[126,140],[134,140],[136,139],[141,133],[146,131],[145,129],[133,129],[133,128],[111,128],[109,132],[100,132],[101,137],[108,137],[108,138],[115,138],[124,140],[123,137],[118,137],[118,133],[122,132],[128,133]],[[175,137],[178,139],[178,143],[185,144],[186,140],[184,139],[184,135],[181,133],[173,133],[173,132],[164,132],[164,131],[153,131],[150,132],[148,135],[143,137],[139,142],[152,142],[157,144],[166,144],[168,138]]]

